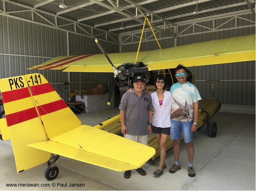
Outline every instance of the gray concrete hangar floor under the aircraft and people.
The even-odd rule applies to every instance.
[[[112,117],[118,109],[89,114],[79,114],[84,124],[94,125]],[[218,131],[215,138],[207,136],[207,127],[194,133],[194,167],[196,176],[188,176],[188,158],[184,142],[181,143],[180,164],[182,169],[169,173],[174,163],[172,149],[167,151],[167,168],[160,177],[153,172],[159,158],[147,162],[143,168],[146,176],[133,170],[131,178],[116,172],[61,157],[56,164],[60,170],[54,180],[46,180],[47,164],[16,173],[11,142],[0,142],[0,190],[255,190],[255,115],[217,112],[213,119]],[[49,184],[49,187],[7,187],[10,183]],[[67,187],[57,186],[62,184]],[[83,187],[69,187],[70,183],[82,183]],[[53,185],[56,186],[53,186]]]

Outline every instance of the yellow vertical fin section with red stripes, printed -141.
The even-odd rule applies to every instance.
[[[26,79],[48,139],[81,125],[43,75],[34,73],[26,75]]]

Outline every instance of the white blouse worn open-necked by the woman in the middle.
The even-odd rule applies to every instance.
[[[172,109],[172,94],[169,91],[164,91],[164,101],[160,107],[156,91],[151,94],[154,107],[152,125],[155,127],[171,127],[171,109]]]

